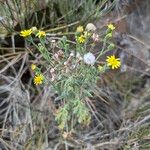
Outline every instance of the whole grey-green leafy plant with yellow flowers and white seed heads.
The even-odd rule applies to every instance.
[[[86,103],[92,97],[99,74],[121,65],[120,59],[114,55],[107,56],[103,64],[98,63],[100,57],[115,46],[111,42],[114,29],[112,24],[108,25],[104,37],[101,37],[103,48],[97,55],[93,54],[92,49],[100,37],[95,33],[96,27],[92,23],[87,24],[85,29],[82,26],[77,28],[75,42],[69,42],[63,36],[58,41],[52,40],[51,47],[46,44],[48,39],[44,31],[36,28],[21,31],[21,36],[26,38],[28,44],[34,45],[45,59],[45,65],[40,66],[49,68],[46,71],[49,73],[42,73],[35,64],[31,66],[35,72],[34,83],[52,86],[58,95],[55,101],[60,103],[60,107],[55,116],[60,129],[70,131],[78,123],[90,123],[91,113]],[[34,42],[34,37],[39,39],[38,44]]]

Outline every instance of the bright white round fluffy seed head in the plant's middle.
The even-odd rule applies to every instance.
[[[90,52],[84,55],[83,60],[88,65],[94,65],[96,61],[95,56]]]

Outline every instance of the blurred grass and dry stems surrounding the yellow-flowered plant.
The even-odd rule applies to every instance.
[[[150,149],[149,0],[0,1],[0,148],[1,149]],[[32,63],[40,54],[18,33],[36,26],[49,39],[93,22],[98,29],[116,24],[119,71],[101,76],[90,99],[92,123],[67,133],[53,115],[59,107],[50,87],[35,86]],[[99,50],[101,44],[95,47]],[[55,108],[55,109],[53,109]]]

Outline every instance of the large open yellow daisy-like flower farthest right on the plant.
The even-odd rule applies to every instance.
[[[121,62],[119,58],[115,58],[114,55],[112,56],[107,56],[107,65],[110,66],[112,69],[117,69],[121,66]]]

